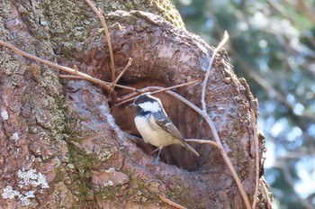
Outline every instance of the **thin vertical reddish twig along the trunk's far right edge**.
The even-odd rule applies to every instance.
[[[255,164],[256,164],[256,187],[255,187],[255,194],[254,194],[254,201],[252,208],[256,208],[257,204],[257,194],[258,194],[258,188],[259,188],[259,153],[258,153],[258,137],[257,137],[257,132],[256,132],[256,119],[255,119],[255,113],[253,110],[250,112],[251,115],[251,123],[252,123],[252,129],[253,129],[253,140],[255,144]]]

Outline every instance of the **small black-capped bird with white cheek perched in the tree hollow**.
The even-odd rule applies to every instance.
[[[143,140],[158,149],[157,158],[153,159],[152,165],[157,165],[161,150],[171,144],[180,144],[199,157],[198,152],[184,141],[157,97],[145,93],[139,95],[130,105],[136,106],[134,122]]]

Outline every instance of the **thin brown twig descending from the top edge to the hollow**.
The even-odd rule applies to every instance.
[[[102,23],[103,30],[105,32],[106,41],[108,43],[108,50],[110,51],[111,65],[112,65],[111,72],[112,72],[112,82],[113,82],[115,80],[115,64],[114,64],[113,53],[112,53],[112,41],[111,41],[111,35],[110,35],[110,32],[108,31],[105,19],[103,18],[103,11],[100,8],[97,10],[96,7],[91,3],[91,1],[85,0],[85,2],[93,9],[94,13],[98,16],[98,18],[100,19]]]

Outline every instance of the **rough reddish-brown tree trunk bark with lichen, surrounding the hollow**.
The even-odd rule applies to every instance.
[[[184,30],[166,1],[97,1],[97,6],[107,14],[117,75],[133,59],[121,84],[173,86],[204,77],[211,47]],[[1,40],[109,80],[103,30],[84,2],[4,0],[0,10]],[[191,144],[201,154],[195,158],[182,148],[167,148],[152,167],[153,148],[130,135],[138,134],[130,108],[111,110],[98,86],[59,79],[59,73],[0,47],[0,207],[168,208],[158,194],[189,208],[244,207],[218,150]],[[201,86],[176,91],[200,105]],[[199,115],[170,96],[157,96],[185,137],[213,140]],[[252,201],[256,122],[250,111],[258,114],[257,102],[224,50],[215,59],[206,101]]]

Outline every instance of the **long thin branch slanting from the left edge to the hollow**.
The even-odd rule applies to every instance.
[[[103,86],[107,91],[110,91],[112,89],[111,86],[108,86],[106,84],[106,82],[104,82],[102,80],[99,80],[97,78],[91,77],[91,76],[89,76],[89,75],[87,75],[85,73],[81,73],[81,72],[77,71],[74,68],[67,68],[67,67],[64,67],[64,66],[60,66],[60,65],[58,65],[56,63],[50,62],[50,61],[48,61],[46,59],[40,59],[39,57],[36,57],[36,56],[34,56],[34,55],[30,54],[30,53],[27,53],[27,52],[25,52],[23,50],[19,50],[16,47],[14,47],[13,45],[11,45],[9,43],[6,43],[4,41],[1,41],[1,40],[0,40],[0,45],[3,45],[4,47],[7,47],[7,48],[9,48],[11,50],[14,50],[15,53],[20,54],[20,55],[22,55],[22,56],[24,56],[26,58],[34,59],[36,61],[39,61],[41,63],[49,65],[50,67],[58,68],[58,69],[60,69],[62,71],[65,71],[65,72],[67,72],[69,74],[81,77],[82,79],[89,80],[91,82],[94,82],[95,84]]]

